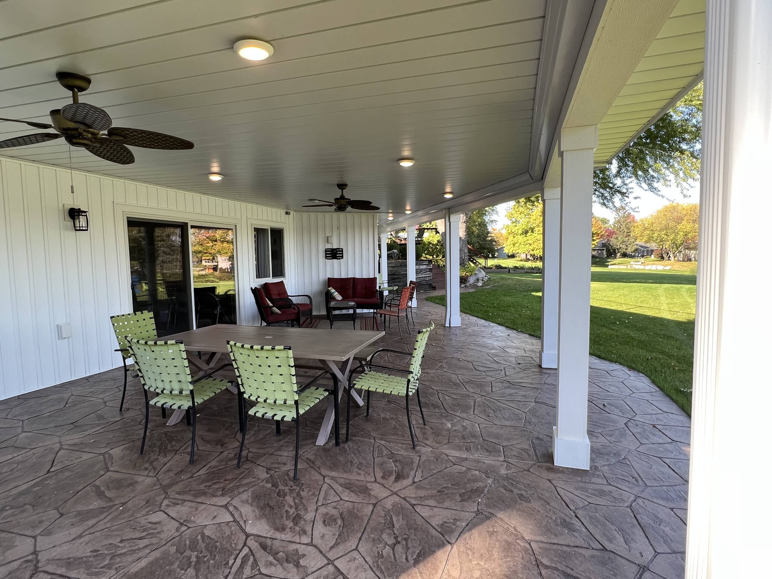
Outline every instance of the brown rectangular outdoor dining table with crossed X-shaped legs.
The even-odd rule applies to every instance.
[[[281,326],[237,326],[229,323],[218,323],[214,326],[198,328],[164,337],[164,340],[182,340],[188,351],[188,364],[191,371],[199,374],[212,371],[229,360],[227,340],[256,346],[289,346],[293,349],[293,357],[317,360],[323,370],[331,371],[338,380],[337,399],[331,399],[327,405],[322,427],[317,436],[317,445],[323,445],[330,438],[330,431],[335,426],[336,435],[339,432],[337,407],[340,396],[348,388],[348,378],[354,356],[359,350],[383,337],[384,332],[370,330],[323,330],[305,327]],[[201,357],[195,353],[201,353]],[[191,355],[193,354],[193,355]],[[223,359],[225,357],[225,359]],[[310,368],[296,364],[299,368]],[[320,385],[320,388],[325,388]],[[332,386],[330,386],[332,388]],[[235,394],[237,390],[230,386]],[[351,398],[358,405],[364,402],[352,391]],[[175,410],[167,425],[175,425],[185,416],[185,410]],[[336,438],[338,438],[336,436]]]

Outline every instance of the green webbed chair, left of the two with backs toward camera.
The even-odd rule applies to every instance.
[[[126,341],[131,357],[137,364],[145,394],[145,428],[142,433],[140,454],[144,453],[150,405],[185,410],[188,424],[191,424],[192,417],[190,463],[193,464],[196,405],[228,388],[229,381],[212,378],[212,374],[230,364],[222,364],[198,378],[192,378],[190,366],[188,366],[188,354],[185,352],[182,340],[151,341],[126,337]],[[147,398],[147,392],[154,392],[157,396],[151,400]]]

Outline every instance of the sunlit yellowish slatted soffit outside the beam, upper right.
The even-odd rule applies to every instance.
[[[603,118],[595,165],[607,164],[699,82],[704,59],[705,0],[681,0]]]

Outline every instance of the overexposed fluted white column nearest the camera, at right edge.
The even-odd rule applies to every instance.
[[[770,574],[770,28],[769,0],[707,2],[687,579]]]

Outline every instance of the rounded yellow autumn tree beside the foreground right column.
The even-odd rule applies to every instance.
[[[675,254],[687,245],[697,243],[699,205],[696,203],[671,203],[640,219],[633,231],[645,243],[655,243],[662,255],[675,259]]]

